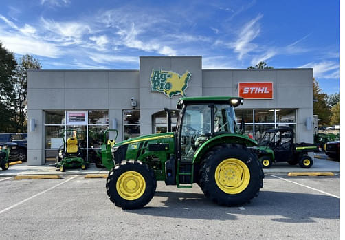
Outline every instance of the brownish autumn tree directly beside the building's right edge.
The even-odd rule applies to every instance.
[[[331,111],[327,106],[327,94],[324,94],[319,83],[313,78],[313,96],[314,96],[314,114],[318,115],[320,125],[328,125],[331,117]]]

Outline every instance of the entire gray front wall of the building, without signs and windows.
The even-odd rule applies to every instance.
[[[28,118],[37,127],[28,131],[28,164],[44,163],[44,110],[109,109],[109,125],[116,120],[122,140],[122,110],[140,109],[141,134],[152,133],[152,114],[175,109],[177,100],[151,92],[152,69],[192,76],[187,96],[238,96],[238,82],[271,81],[274,99],[245,100],[241,108],[291,108],[297,111],[297,141],[313,142],[307,118],[313,118],[313,69],[202,69],[201,56],[141,56],[140,70],[32,70],[28,73]],[[30,129],[30,126],[28,126]]]

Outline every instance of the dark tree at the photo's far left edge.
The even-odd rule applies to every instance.
[[[0,42],[0,132],[12,131],[11,99],[15,69],[16,59],[13,53],[6,50]]]

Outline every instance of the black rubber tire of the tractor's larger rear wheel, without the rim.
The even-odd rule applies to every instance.
[[[216,182],[216,168],[221,166],[223,162],[229,161],[230,158],[236,159],[236,162],[240,163],[241,167],[243,166],[249,171],[249,182],[247,182],[247,185],[240,184],[243,189],[239,190],[238,193],[226,193]],[[201,164],[203,165],[201,166],[201,174],[199,175],[199,184],[205,196],[210,197],[217,204],[223,206],[241,206],[258,196],[260,188],[263,188],[263,178],[265,177],[263,168],[260,162],[258,162],[258,157],[245,146],[238,144],[221,144],[216,146],[205,155]],[[229,171],[231,178],[232,169]],[[225,172],[227,173],[227,171]],[[238,180],[245,179],[246,177],[242,174],[241,177],[235,177],[235,181],[237,181],[236,178]],[[219,181],[226,181],[226,179],[220,179]],[[230,179],[230,181],[232,180]]]

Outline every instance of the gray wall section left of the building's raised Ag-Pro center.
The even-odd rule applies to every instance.
[[[122,109],[132,109],[131,97],[139,99],[137,70],[33,70],[28,79],[28,119],[37,124],[27,136],[30,165],[44,163],[43,110],[109,109],[110,126],[115,119],[122,129]],[[118,138],[122,139],[122,131]]]

